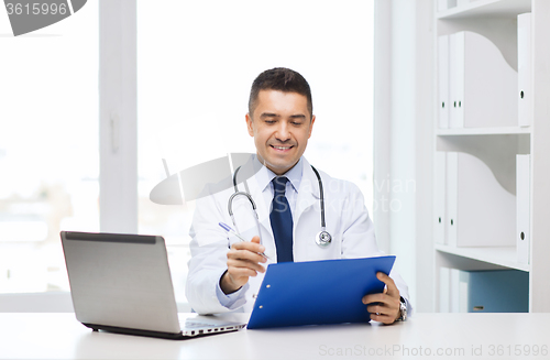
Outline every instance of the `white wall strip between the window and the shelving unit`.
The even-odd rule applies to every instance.
[[[375,7],[375,207],[378,243],[397,255],[417,312],[432,310],[431,0]]]

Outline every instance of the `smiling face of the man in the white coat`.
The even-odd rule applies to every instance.
[[[277,175],[300,160],[314,122],[307,98],[298,92],[260,90],[253,113],[246,113],[258,160]]]

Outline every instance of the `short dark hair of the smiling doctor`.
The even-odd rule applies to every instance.
[[[297,92],[307,98],[309,116],[314,117],[311,89],[308,81],[299,73],[286,67],[275,67],[260,74],[250,89],[249,113],[252,117],[256,107],[257,95],[261,90],[279,90],[283,92]]]

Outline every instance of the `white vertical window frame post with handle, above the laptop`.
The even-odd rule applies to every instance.
[[[99,228],[138,233],[136,0],[99,0]]]

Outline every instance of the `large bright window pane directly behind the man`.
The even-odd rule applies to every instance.
[[[151,189],[228,152],[252,152],[244,114],[253,79],[276,66],[308,79],[317,121],[308,161],[358,184],[372,214],[372,1],[138,2],[139,227],[168,242],[183,298],[193,201]],[[344,160],[344,161],[342,161]]]

